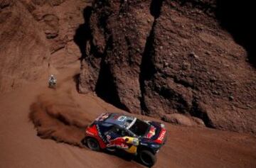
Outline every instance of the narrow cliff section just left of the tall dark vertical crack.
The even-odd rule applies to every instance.
[[[116,106],[140,113],[140,65],[154,21],[150,1],[102,1],[95,6],[91,50],[82,64],[80,88],[90,86]]]

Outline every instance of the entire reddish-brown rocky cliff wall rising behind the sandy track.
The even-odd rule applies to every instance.
[[[0,93],[81,59],[80,92],[172,123],[255,133],[254,29],[229,2],[0,0]]]

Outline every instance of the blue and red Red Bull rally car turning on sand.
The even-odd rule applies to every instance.
[[[137,155],[142,164],[151,167],[165,141],[166,129],[162,123],[102,113],[86,128],[82,144],[95,151],[122,149]]]

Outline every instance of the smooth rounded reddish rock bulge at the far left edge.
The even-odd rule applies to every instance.
[[[49,56],[36,21],[20,1],[0,1],[0,92],[36,79]],[[33,67],[33,70],[31,70]]]

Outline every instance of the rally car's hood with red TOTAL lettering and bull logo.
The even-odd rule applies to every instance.
[[[159,144],[164,143],[164,140],[166,138],[166,129],[164,128],[164,124],[154,121],[149,121],[149,124],[149,131],[148,133],[146,133],[144,138]]]

